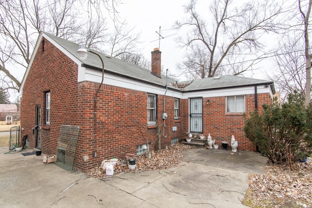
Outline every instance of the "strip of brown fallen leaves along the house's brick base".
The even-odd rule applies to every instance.
[[[135,170],[128,168],[127,162],[120,160],[115,166],[115,173],[118,172],[137,172],[146,170],[162,170],[176,167],[184,155],[181,155],[182,151],[187,149],[193,149],[194,147],[177,143],[174,146],[167,147],[164,150],[156,152],[155,156],[148,159],[145,155],[140,155],[136,158],[137,167]],[[100,166],[93,168],[87,172],[87,175],[94,178],[100,178],[105,176],[105,170]]]

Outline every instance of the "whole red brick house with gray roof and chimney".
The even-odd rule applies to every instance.
[[[272,81],[241,76],[166,80],[161,52],[155,49],[152,71],[96,52],[105,68],[100,85],[100,58],[89,52],[80,59],[78,48],[39,34],[20,87],[21,134],[30,138],[30,148],[56,153],[61,125],[74,125],[80,127],[75,155],[80,170],[103,159],[143,153],[145,145],[163,149],[184,139],[186,132],[211,133],[219,144],[234,135],[239,150],[255,150],[245,137],[243,114],[271,102]],[[41,128],[32,132],[35,126]]]

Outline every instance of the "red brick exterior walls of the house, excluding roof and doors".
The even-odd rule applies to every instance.
[[[21,98],[22,135],[30,138],[30,148],[36,147],[32,128],[36,124],[36,106],[41,113],[41,150],[44,154],[56,153],[61,125],[80,126],[75,167],[91,169],[104,159],[124,157],[125,153],[136,153],[137,146],[151,143],[156,150],[156,133],[160,134],[161,148],[171,145],[171,139],[181,141],[188,131],[188,99],[180,99],[180,119],[174,119],[174,97],[166,96],[165,111],[168,118],[164,122],[163,95],[156,95],[157,125],[147,125],[147,93],[120,87],[102,85],[97,95],[97,136],[94,136],[94,97],[98,83],[77,82],[78,65],[45,40],[45,50],[35,56],[23,87]],[[45,92],[51,93],[50,126],[44,125]],[[225,97],[206,98],[204,105],[204,133],[212,134],[217,143],[231,140],[234,134],[239,149],[253,149],[244,137],[242,114],[225,113]],[[258,95],[258,107],[268,94]],[[247,95],[247,112],[254,109],[254,95]],[[172,127],[177,131],[173,132]],[[158,127],[158,128],[156,128]],[[165,136],[163,136],[165,135]],[[94,156],[95,148],[97,157]]]

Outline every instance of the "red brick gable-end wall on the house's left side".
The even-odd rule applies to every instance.
[[[36,106],[41,106],[41,149],[45,154],[56,153],[61,125],[81,123],[84,106],[79,103],[81,90],[77,83],[77,64],[45,40],[40,45],[23,88],[21,98],[21,134],[30,138],[30,148],[36,147],[32,128],[36,125]],[[51,93],[51,126],[45,121],[45,92]],[[80,143],[78,142],[78,145]]]

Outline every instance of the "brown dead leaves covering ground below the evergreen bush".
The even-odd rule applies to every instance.
[[[312,159],[298,162],[295,170],[272,165],[264,168],[265,174],[254,174],[244,204],[250,207],[312,207]]]

